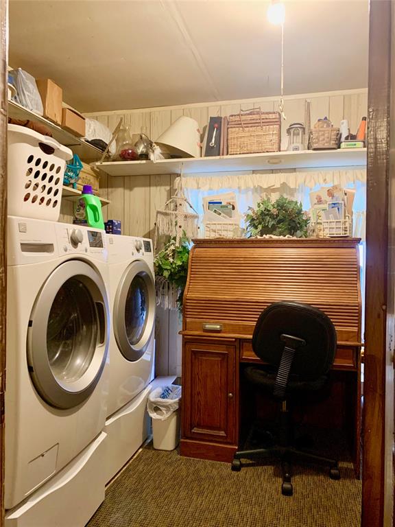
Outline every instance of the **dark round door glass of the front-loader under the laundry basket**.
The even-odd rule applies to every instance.
[[[75,278],[60,287],[49,312],[47,354],[61,382],[77,381],[95,354],[99,334],[96,306],[88,288]]]

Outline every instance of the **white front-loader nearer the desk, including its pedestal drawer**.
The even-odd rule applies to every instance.
[[[107,235],[110,279],[110,388],[107,480],[147,438],[145,406],[154,378],[155,279],[150,239]]]

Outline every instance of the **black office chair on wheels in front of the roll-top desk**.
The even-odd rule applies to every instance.
[[[235,453],[232,470],[241,470],[241,459],[277,456],[283,468],[283,495],[292,495],[290,465],[294,458],[330,467],[330,477],[340,479],[337,461],[292,445],[294,430],[287,402],[302,393],[319,390],[336,352],[336,331],[320,309],[297,302],[277,302],[267,307],[256,322],[252,348],[267,366],[249,366],[248,383],[269,392],[281,402],[277,444]]]

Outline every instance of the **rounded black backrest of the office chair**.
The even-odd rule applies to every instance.
[[[291,364],[291,374],[302,380],[318,379],[325,375],[335,358],[337,338],[331,319],[309,304],[284,301],[267,307],[259,316],[252,348],[261,360],[278,368],[285,350],[284,338],[304,340]]]

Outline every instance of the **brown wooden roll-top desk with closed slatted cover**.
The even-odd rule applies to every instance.
[[[361,285],[359,239],[196,239],[182,322],[180,454],[230,462],[239,442],[239,368],[259,314],[289,300],[318,307],[337,331],[333,371],[352,417],[359,474]],[[344,377],[344,375],[346,375]],[[336,408],[333,411],[337,411]]]

